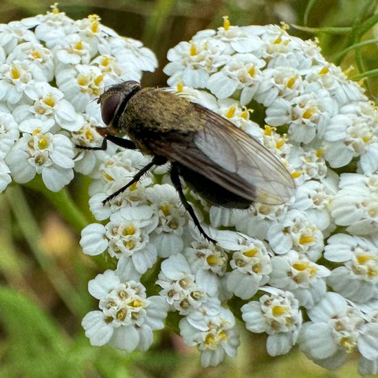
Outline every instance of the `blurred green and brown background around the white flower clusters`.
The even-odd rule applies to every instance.
[[[2,0],[0,22],[8,23],[49,10],[45,0]],[[375,0],[96,0],[60,1],[72,19],[99,14],[119,34],[143,41],[159,59],[144,85],[164,86],[166,52],[205,28],[265,25],[285,21],[302,38],[317,36],[324,56],[355,78],[366,76],[375,100],[377,47],[343,50],[375,38]],[[341,54],[340,54],[341,52]],[[363,74],[365,72],[365,74]],[[297,349],[271,358],[265,337],[242,330],[238,357],[217,368],[199,367],[199,354],[168,331],[155,335],[147,353],[122,353],[91,347],[80,326],[97,308],[87,282],[107,267],[104,257],[87,258],[78,241],[80,229],[93,221],[88,181],[78,177],[58,194],[41,192],[38,183],[10,186],[0,194],[0,377],[357,377],[357,356],[335,372],[324,370]],[[74,203],[78,209],[67,203]],[[82,212],[82,214],[81,214]]]

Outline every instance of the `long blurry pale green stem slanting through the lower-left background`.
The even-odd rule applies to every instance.
[[[82,306],[80,305],[82,303],[80,295],[60,270],[56,264],[54,256],[48,254],[47,250],[41,245],[41,232],[21,187],[12,186],[8,188],[5,195],[10,203],[16,221],[25,236],[25,240],[38,264],[41,266],[50,282],[52,282],[54,289],[71,313],[78,317],[82,316],[83,311],[85,310],[82,309]]]

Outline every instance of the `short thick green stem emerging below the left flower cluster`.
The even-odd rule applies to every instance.
[[[90,223],[72,200],[67,188],[63,188],[59,192],[52,192],[43,184],[40,175],[29,181],[26,186],[41,192],[55,206],[63,219],[79,233]]]

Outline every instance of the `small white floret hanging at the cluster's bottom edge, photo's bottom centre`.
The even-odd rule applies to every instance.
[[[190,324],[188,318],[181,319],[179,327],[184,343],[201,351],[201,365],[217,366],[225,355],[236,357],[240,341],[232,312],[221,307],[216,315],[199,315],[203,318],[200,329]]]

